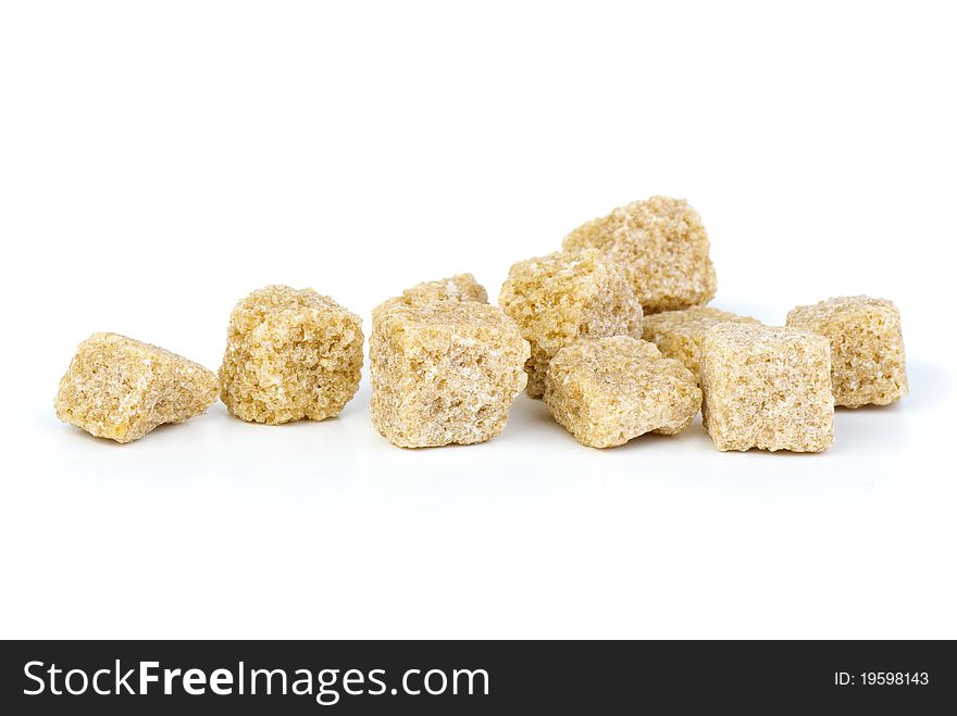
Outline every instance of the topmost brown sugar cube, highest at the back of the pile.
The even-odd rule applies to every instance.
[[[621,266],[646,314],[707,303],[718,288],[708,234],[683,199],[634,201],[580,226],[562,247],[594,247]]]

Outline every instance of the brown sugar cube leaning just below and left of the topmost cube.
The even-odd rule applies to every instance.
[[[582,338],[642,337],[642,304],[616,266],[587,249],[520,261],[498,298],[532,346],[527,392],[545,393],[548,362]]]

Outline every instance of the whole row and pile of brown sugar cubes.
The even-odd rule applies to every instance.
[[[372,314],[372,424],[401,448],[497,436],[524,390],[583,445],[675,435],[701,411],[722,451],[820,452],[835,405],[907,393],[900,315],[862,296],[767,326],[706,305],[708,235],[687,202],[652,197],[512,265],[498,305],[471,274],[426,281]],[[359,388],[361,319],[312,289],[269,286],[229,317],[219,374],[115,334],[80,343],[57,414],[129,442],[200,415],[278,425],[338,415]]]

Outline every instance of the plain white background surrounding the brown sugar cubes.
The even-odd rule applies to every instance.
[[[2,5],[0,636],[957,637],[948,3],[332,4]],[[214,368],[260,286],[368,328],[654,193],[718,306],[893,299],[911,394],[820,455],[591,450],[524,397],[402,451],[365,379],[128,445],[53,414],[92,331]]]

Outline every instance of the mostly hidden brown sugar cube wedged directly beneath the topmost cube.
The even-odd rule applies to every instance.
[[[708,306],[692,306],[683,311],[666,311],[645,316],[642,338],[655,343],[663,355],[687,366],[701,379],[701,338],[705,331],[719,323],[760,323],[750,316],[739,316]]]

